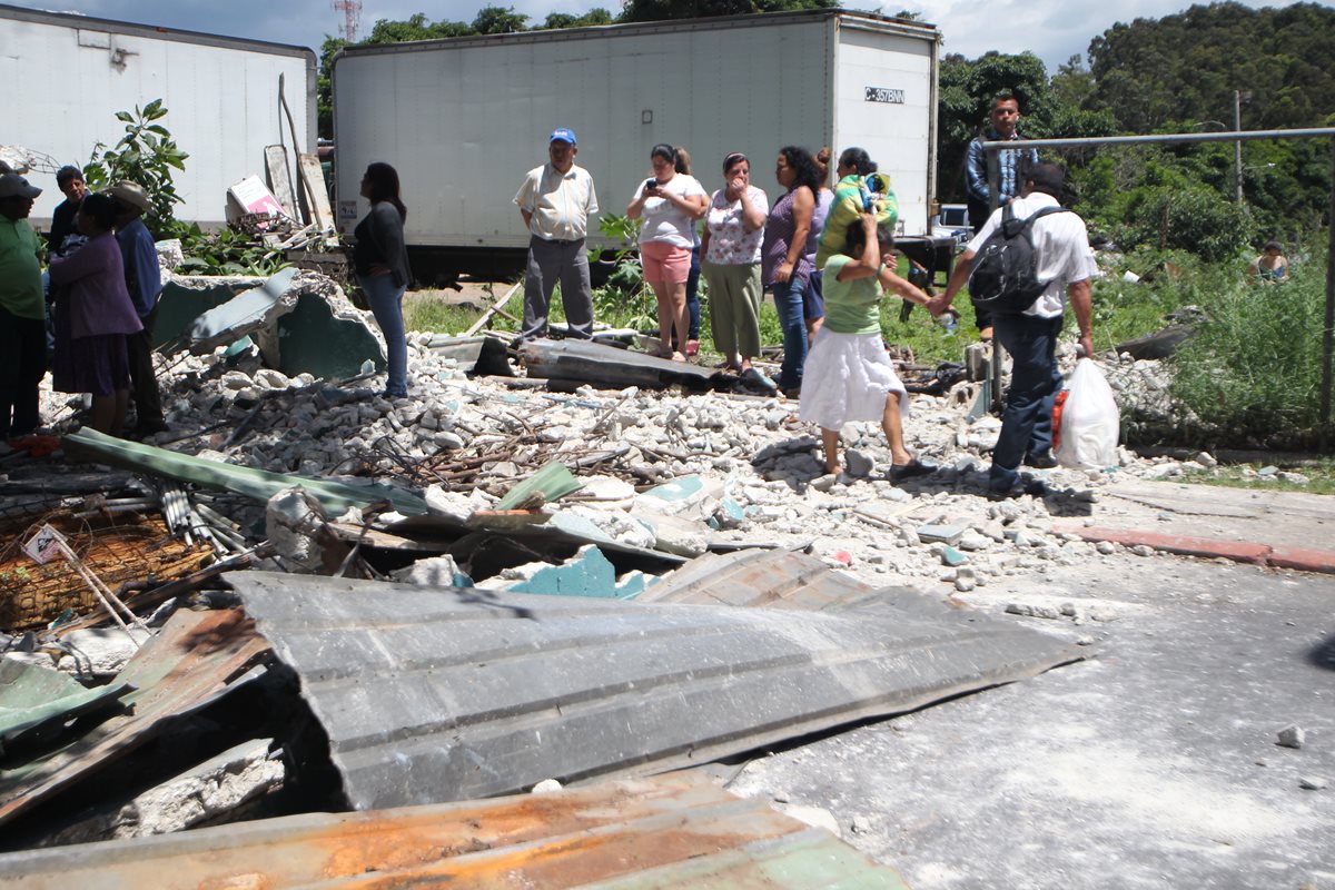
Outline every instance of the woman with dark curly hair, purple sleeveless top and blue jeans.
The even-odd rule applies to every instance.
[[[785,395],[796,398],[802,388],[808,346],[802,296],[812,274],[812,260],[806,254],[806,236],[812,231],[821,175],[809,151],[785,145],[774,161],[774,177],[786,191],[765,220],[761,276],[765,288],[774,294],[774,308],[784,331],[784,364],[778,386]]]

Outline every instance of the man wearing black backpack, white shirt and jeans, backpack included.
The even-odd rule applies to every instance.
[[[1080,327],[1080,346],[1093,355],[1093,251],[1084,220],[1059,201],[1064,183],[1056,164],[1029,169],[1020,197],[988,217],[956,263],[945,292],[928,303],[940,315],[969,283],[975,300],[993,312],[996,342],[1011,354],[1011,388],[988,474],[991,498],[1016,494],[1021,463],[1056,466],[1052,406],[1061,390],[1056,346],[1067,298]]]

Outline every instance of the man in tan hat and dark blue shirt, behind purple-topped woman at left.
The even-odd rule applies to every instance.
[[[158,375],[154,372],[154,320],[158,318],[158,295],[163,290],[158,268],[158,248],[144,226],[143,215],[152,200],[143,185],[119,181],[107,189],[116,201],[116,243],[125,264],[125,287],[135,304],[135,312],[144,330],[125,338],[129,354],[131,395],[138,418],[134,435],[150,436],[167,430],[163,420],[162,398],[158,395]]]

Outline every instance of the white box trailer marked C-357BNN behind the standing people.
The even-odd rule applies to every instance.
[[[657,143],[689,148],[709,191],[745,152],[772,201],[784,145],[860,145],[892,177],[901,234],[926,235],[939,47],[934,25],[828,9],[348,47],[332,64],[338,223],[366,212],[360,177],[382,160],[419,279],[442,258],[519,254],[514,193],[570,127],[603,213],[625,212]]]

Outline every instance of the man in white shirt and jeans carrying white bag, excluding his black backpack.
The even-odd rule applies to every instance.
[[[1060,205],[1057,199],[1064,180],[1056,164],[1039,164],[1029,169],[1020,197],[1011,203],[1016,219],[1028,219],[1044,207]],[[969,280],[973,258],[996,231],[1003,212],[1004,208],[997,208],[969,242],[951,274],[945,294],[928,303],[933,315],[949,308],[955,295]],[[1047,288],[1024,312],[992,318],[996,340],[1011,354],[1012,368],[1001,434],[992,450],[992,470],[988,474],[991,498],[1015,494],[1021,462],[1037,468],[1056,466],[1052,456],[1052,407],[1061,390],[1056,347],[1067,298],[1076,312],[1080,346],[1085,355],[1093,355],[1089,278],[1096,267],[1084,220],[1073,212],[1049,213],[1033,223],[1031,236],[1039,258],[1039,280],[1047,282]]]

